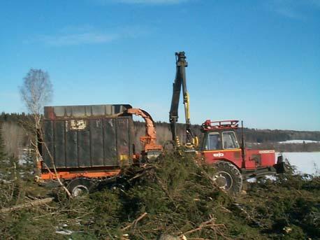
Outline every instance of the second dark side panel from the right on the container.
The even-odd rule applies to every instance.
[[[106,166],[119,165],[117,159],[117,135],[115,118],[103,120],[103,155]]]

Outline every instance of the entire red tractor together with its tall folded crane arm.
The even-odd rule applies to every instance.
[[[243,125],[241,127],[241,143],[238,141],[238,120],[205,120],[201,125],[201,144],[191,132],[189,113],[189,93],[187,92],[186,67],[188,66],[184,52],[176,52],[176,74],[173,83],[173,97],[170,107],[170,128],[173,142],[180,147],[176,123],[182,88],[184,113],[186,120],[185,142],[182,144],[187,152],[194,151],[207,164],[217,169],[212,176],[219,188],[238,194],[242,189],[242,181],[248,178],[279,174],[284,172],[282,156],[275,161],[275,150],[253,150],[245,148]]]

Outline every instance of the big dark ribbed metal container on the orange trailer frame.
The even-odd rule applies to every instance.
[[[130,105],[46,106],[43,168],[119,167],[133,157]]]

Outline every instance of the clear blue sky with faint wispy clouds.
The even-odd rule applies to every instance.
[[[320,130],[319,0],[2,1],[0,27],[0,111],[26,111],[18,87],[36,68],[51,105],[124,103],[168,121],[184,50],[192,123]]]

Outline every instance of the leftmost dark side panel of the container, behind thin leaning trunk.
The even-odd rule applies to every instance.
[[[53,153],[53,127],[51,121],[45,121],[43,122],[43,141],[45,142],[45,145],[48,147],[49,153]],[[43,162],[45,165],[47,165],[49,168],[52,168],[52,161],[50,159],[50,154],[48,153],[47,148],[43,144],[42,146],[42,152],[43,152]],[[45,166],[43,166],[45,168]]]

